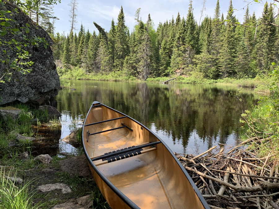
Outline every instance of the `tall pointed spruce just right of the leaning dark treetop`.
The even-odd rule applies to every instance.
[[[114,64],[116,70],[122,70],[123,62],[127,55],[127,33],[126,33],[125,17],[124,17],[122,6],[117,21],[118,22],[116,26],[116,36],[115,36]]]

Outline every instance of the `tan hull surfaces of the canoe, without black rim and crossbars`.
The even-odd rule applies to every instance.
[[[99,106],[91,108],[84,124],[122,116],[108,107]],[[121,123],[133,131],[127,128],[108,131],[91,135],[86,142],[87,131],[100,132],[120,127]],[[128,117],[84,127],[83,140],[86,152],[91,158],[129,146],[159,141],[148,129]],[[141,209],[204,209],[184,172],[164,144],[154,147],[157,147],[157,150],[99,165],[97,168]],[[149,146],[143,149],[150,148]],[[100,162],[102,160],[94,161],[95,164]],[[130,208],[98,177],[92,167],[91,172],[111,208]]]

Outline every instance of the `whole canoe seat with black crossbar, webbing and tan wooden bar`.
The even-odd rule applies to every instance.
[[[161,142],[160,141],[152,142],[152,143],[147,142],[142,145],[126,147],[126,148],[123,148],[120,150],[115,150],[112,152],[105,153],[104,155],[97,156],[97,157],[93,158],[92,161],[96,161],[96,160],[100,160],[100,159],[103,160],[103,162],[101,162],[101,163],[96,163],[95,166],[103,165],[106,163],[111,163],[111,162],[114,162],[117,160],[122,160],[125,158],[129,158],[129,157],[133,157],[136,155],[140,155],[140,154],[144,154],[144,153],[147,153],[150,151],[157,150],[157,148],[153,147],[153,145],[156,145],[159,143],[161,143]],[[148,146],[151,146],[152,148],[147,149],[147,150],[142,149],[142,148],[148,147]]]

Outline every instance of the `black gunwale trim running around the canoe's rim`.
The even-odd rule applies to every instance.
[[[166,145],[166,143],[160,138],[158,137],[155,133],[153,133],[149,128],[147,128],[146,126],[144,126],[143,124],[139,123],[138,121],[136,121],[135,119],[131,118],[128,115],[123,114],[122,112],[119,112],[111,107],[108,107],[100,102],[94,101],[89,109],[89,111],[87,112],[86,118],[84,120],[84,123],[87,119],[87,116],[91,110],[91,108],[93,107],[94,104],[100,104],[104,107],[107,107],[108,109],[111,109],[113,111],[116,111],[117,113],[122,114],[123,116],[127,116],[129,119],[133,120],[134,122],[136,122],[137,124],[139,124],[140,126],[146,128],[150,133],[152,133],[155,137],[157,137],[157,139],[167,148],[167,150],[170,152],[170,154],[172,155],[172,157],[175,159],[176,163],[179,165],[180,169],[184,172],[186,178],[188,179],[188,181],[190,182],[192,188],[194,189],[195,193],[197,194],[198,198],[201,201],[201,204],[203,205],[203,207],[205,209],[210,209],[210,207],[208,206],[206,200],[204,199],[204,197],[202,196],[202,194],[200,193],[200,191],[198,190],[197,186],[195,185],[193,179],[191,178],[191,176],[188,174],[188,172],[186,171],[186,169],[182,166],[182,164],[180,163],[180,161],[177,159],[177,157],[175,157],[175,155],[173,154],[173,152],[170,150],[170,148]],[[101,106],[100,106],[101,107]],[[129,198],[126,197],[126,195],[124,195],[119,189],[117,189],[116,186],[114,186],[105,176],[102,172],[100,172],[100,170],[97,168],[97,166],[95,166],[95,164],[93,163],[93,161],[90,159],[89,155],[87,154],[87,151],[85,149],[85,144],[84,144],[84,139],[83,139],[83,131],[84,131],[84,123],[82,125],[82,148],[84,151],[84,154],[88,160],[88,162],[90,163],[90,165],[92,166],[92,168],[95,170],[95,172],[100,176],[100,178],[108,185],[108,187],[110,189],[113,190],[113,192],[115,194],[117,194],[117,196],[119,198],[121,198],[129,207],[131,207],[132,209],[140,209],[134,202],[132,202]]]

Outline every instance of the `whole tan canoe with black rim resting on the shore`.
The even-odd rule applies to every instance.
[[[92,175],[112,209],[210,209],[170,148],[131,117],[95,101],[82,133]]]

